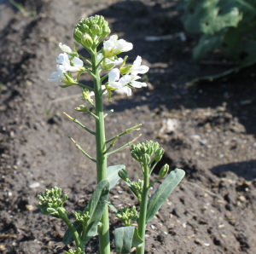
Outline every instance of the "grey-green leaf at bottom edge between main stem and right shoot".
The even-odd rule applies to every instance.
[[[130,253],[135,227],[122,227],[114,230],[115,251]]]

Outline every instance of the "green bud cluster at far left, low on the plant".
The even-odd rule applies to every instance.
[[[67,201],[67,195],[61,196],[61,188],[46,189],[44,193],[39,194],[38,199],[40,200],[38,207],[43,214],[60,217],[66,212],[63,204]]]

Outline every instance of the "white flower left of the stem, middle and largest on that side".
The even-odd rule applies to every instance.
[[[84,66],[83,61],[81,61],[78,57],[73,57],[72,60],[70,55],[67,55],[67,53],[61,53],[57,59],[56,62],[58,65],[61,66],[63,71],[66,72],[79,72],[82,67]],[[73,63],[73,65],[72,65]]]

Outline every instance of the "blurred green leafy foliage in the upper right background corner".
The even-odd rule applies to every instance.
[[[256,62],[256,2],[253,0],[183,0],[183,25],[201,34],[193,50],[201,61],[218,49],[240,65]]]

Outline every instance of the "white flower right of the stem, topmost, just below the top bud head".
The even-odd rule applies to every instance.
[[[117,35],[112,35],[108,41],[104,42],[103,52],[105,56],[109,57],[130,51],[132,48],[132,43],[128,43],[124,39],[118,40]]]

